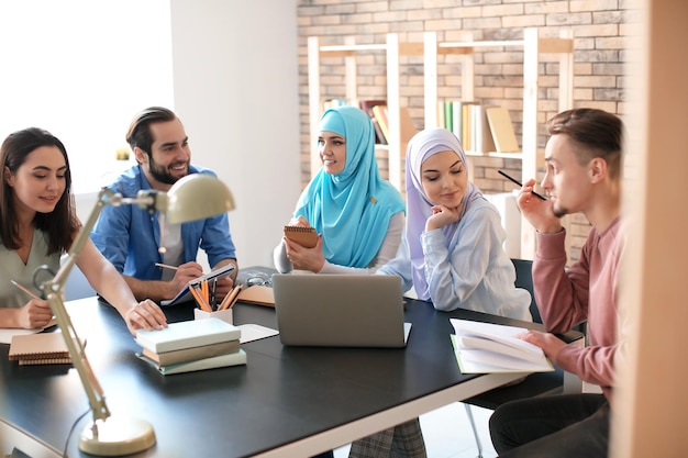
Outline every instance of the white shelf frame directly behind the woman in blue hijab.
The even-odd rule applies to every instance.
[[[384,44],[356,44],[355,37],[344,38],[342,45],[323,45],[318,36],[308,37],[308,90],[309,90],[309,124],[310,124],[310,170],[314,176],[320,169],[317,142],[320,115],[323,110],[324,98],[321,93],[320,67],[323,59],[344,58],[345,63],[345,99],[349,104],[358,105],[356,83],[356,56],[360,53],[380,52],[386,54],[387,69],[387,118],[389,122],[389,138],[387,145],[378,145],[385,149],[389,161],[389,181],[402,190],[402,157],[401,115],[399,103],[399,58],[401,55],[423,55],[422,43],[400,43],[399,35],[389,33]]]

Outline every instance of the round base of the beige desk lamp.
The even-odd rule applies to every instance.
[[[89,423],[79,438],[81,451],[107,457],[135,454],[154,444],[155,432],[148,422],[114,416]]]

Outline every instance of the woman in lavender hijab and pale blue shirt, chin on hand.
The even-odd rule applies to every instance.
[[[397,257],[377,275],[398,275],[404,290],[437,310],[467,309],[532,321],[528,291],[502,248],[497,209],[468,179],[458,138],[430,129],[407,148],[406,233]],[[349,457],[425,456],[418,418],[352,444]]]

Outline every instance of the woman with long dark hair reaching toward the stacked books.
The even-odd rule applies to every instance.
[[[48,132],[31,127],[10,134],[0,147],[0,327],[38,328],[53,312],[47,301],[32,299],[11,280],[42,297],[33,284],[36,268],[59,269],[79,232],[71,205],[71,172],[63,143]],[[126,282],[87,242],[77,266],[93,289],[120,312],[132,334],[167,326],[152,301],[136,302]]]

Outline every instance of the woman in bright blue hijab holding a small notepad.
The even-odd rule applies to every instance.
[[[373,273],[401,243],[404,202],[380,178],[370,118],[355,107],[330,109],[320,119],[322,168],[301,193],[289,225],[314,227],[308,248],[284,238],[275,267],[315,273]]]

